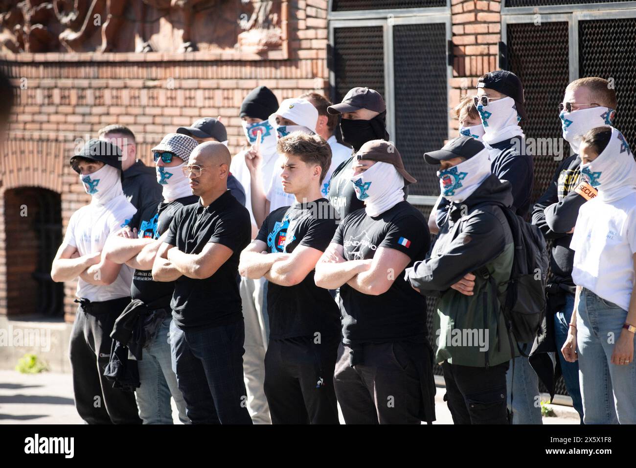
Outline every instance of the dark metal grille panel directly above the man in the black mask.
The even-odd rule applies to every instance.
[[[333,31],[334,103],[352,88],[370,87],[384,96],[382,26],[338,27]]]

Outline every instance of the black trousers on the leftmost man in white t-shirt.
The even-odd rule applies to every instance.
[[[75,407],[88,424],[141,424],[134,392],[113,388],[104,377],[111,357],[116,318],[130,297],[80,304],[71,332],[69,355]]]

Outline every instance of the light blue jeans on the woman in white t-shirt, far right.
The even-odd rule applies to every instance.
[[[610,362],[627,311],[583,288],[576,314],[584,423],[636,424],[636,365]]]

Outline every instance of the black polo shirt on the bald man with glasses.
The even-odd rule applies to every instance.
[[[184,206],[174,215],[165,242],[184,253],[200,253],[209,242],[232,249],[232,257],[204,280],[182,275],[174,282],[172,316],[182,329],[228,325],[243,319],[239,295],[240,252],[251,238],[249,212],[227,190],[204,207]]]

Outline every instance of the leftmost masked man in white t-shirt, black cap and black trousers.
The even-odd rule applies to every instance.
[[[135,214],[121,190],[121,149],[91,139],[71,157],[90,204],[73,213],[51,269],[53,281],[79,277],[69,354],[75,406],[89,424],[139,424],[135,395],[104,377],[115,319],[130,302],[132,270],[106,259],[102,248]]]

